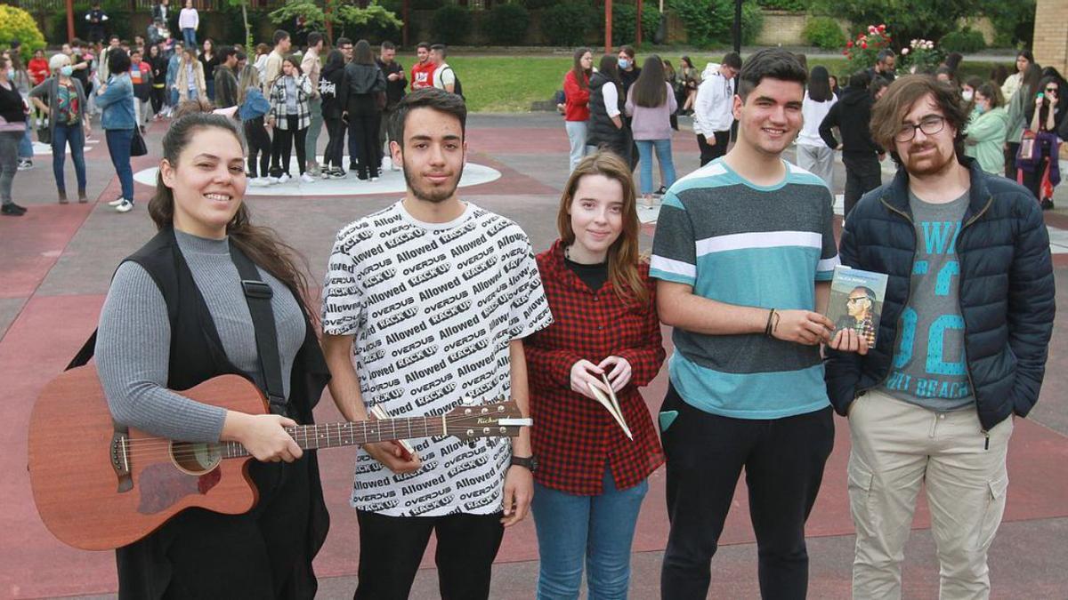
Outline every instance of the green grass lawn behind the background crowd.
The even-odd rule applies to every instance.
[[[666,52],[662,58],[670,60],[672,65],[678,68],[680,56]],[[722,51],[705,54],[691,52],[689,56],[693,59],[694,65],[703,70],[711,59],[719,61]],[[639,62],[644,61],[644,58],[640,54]],[[397,60],[410,73],[415,57],[398,56]],[[595,65],[597,60],[594,60]],[[464,85],[464,96],[471,112],[528,112],[533,102],[550,100],[556,90],[563,89],[564,74],[571,67],[571,57],[456,54],[449,57],[449,64],[455,68]],[[845,59],[808,60],[810,67],[816,65],[826,66],[832,75],[839,75],[839,78],[846,75]],[[994,63],[965,61],[962,68],[965,75],[979,75],[985,78],[992,66]],[[845,81],[841,83],[844,85]]]

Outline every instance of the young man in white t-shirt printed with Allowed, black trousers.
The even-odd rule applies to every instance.
[[[397,105],[390,147],[404,200],[337,234],[323,294],[330,392],[349,421],[367,409],[439,415],[465,398],[511,397],[528,414],[522,338],[552,317],[527,235],[456,195],[467,144],[464,100],[442,90]],[[354,365],[355,351],[355,365]],[[437,535],[445,598],[487,598],[504,527],[533,492],[530,432],[363,444],[352,506],[360,523],[356,598],[407,598]]]

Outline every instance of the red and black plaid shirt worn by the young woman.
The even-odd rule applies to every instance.
[[[615,485],[640,484],[664,461],[645,401],[638,392],[664,361],[655,282],[648,265],[639,272],[650,291],[644,307],[625,304],[608,281],[593,293],[564,264],[560,240],[537,256],[553,323],[523,341],[531,386],[531,437],[537,481],[578,495],[602,492],[606,462]],[[571,391],[571,366],[581,359],[594,364],[607,357],[630,363],[630,382],[619,391],[619,408],[634,435],[629,440],[596,401]]]

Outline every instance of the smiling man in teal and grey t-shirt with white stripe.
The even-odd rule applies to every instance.
[[[743,468],[760,594],[807,589],[804,524],[834,441],[819,345],[832,342],[821,313],[838,254],[827,185],[782,158],[801,130],[806,79],[781,48],[749,58],[734,147],[664,194],[650,274],[660,319],[675,328],[660,410],[666,600],[707,596]],[[863,351],[855,335],[832,344]]]

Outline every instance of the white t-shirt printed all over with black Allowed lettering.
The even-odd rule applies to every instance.
[[[397,202],[342,228],[323,294],[323,330],[354,335],[363,401],[390,416],[444,414],[511,395],[508,344],[552,322],[527,234],[468,203],[449,223]],[[351,504],[392,517],[501,510],[511,440],[411,441],[423,467],[397,475],[357,454]]]

